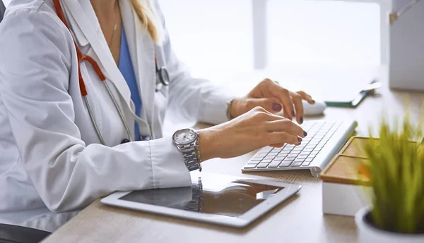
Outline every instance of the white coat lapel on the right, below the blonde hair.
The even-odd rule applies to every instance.
[[[119,3],[121,4],[126,41],[143,102],[141,118],[144,118],[144,112],[148,123],[152,124],[155,99],[155,44],[141,26],[141,20],[129,1],[119,1]]]

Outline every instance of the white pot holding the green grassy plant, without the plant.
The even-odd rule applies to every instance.
[[[358,239],[360,243],[423,243],[424,234],[400,234],[375,228],[365,216],[370,213],[372,206],[365,206],[355,214],[355,223],[358,227]]]

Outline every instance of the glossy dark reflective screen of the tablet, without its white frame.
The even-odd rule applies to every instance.
[[[119,200],[237,217],[283,188],[259,184],[255,180],[202,181],[199,177],[192,187],[134,191]]]

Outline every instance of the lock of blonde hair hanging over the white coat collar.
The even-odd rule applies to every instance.
[[[134,10],[143,25],[148,31],[155,44],[159,44],[163,39],[163,27],[153,8],[152,0],[130,0]]]

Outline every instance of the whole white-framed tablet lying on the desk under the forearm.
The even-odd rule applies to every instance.
[[[103,204],[242,228],[300,190],[268,180],[192,173],[191,187],[115,192]]]

